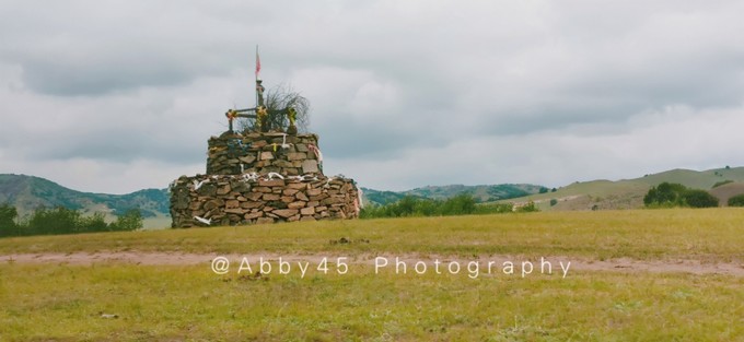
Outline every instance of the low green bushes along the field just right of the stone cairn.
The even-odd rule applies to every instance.
[[[534,203],[520,208],[520,212],[537,211]],[[400,200],[385,205],[369,205],[362,209],[361,219],[410,217],[410,216],[454,216],[497,214],[513,212],[512,203],[478,204],[476,199],[462,193],[446,200],[433,200],[415,196],[405,196]]]

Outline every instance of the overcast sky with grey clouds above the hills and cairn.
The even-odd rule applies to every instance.
[[[206,169],[224,111],[312,104],[361,186],[744,165],[742,1],[0,0],[0,173],[94,192]]]

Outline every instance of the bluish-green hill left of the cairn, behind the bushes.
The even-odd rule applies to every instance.
[[[68,189],[39,177],[0,175],[0,203],[14,205],[21,216],[39,207],[65,207],[109,215],[137,208],[146,219],[156,217],[168,215],[168,198],[167,189],[147,189],[127,194],[91,193]]]

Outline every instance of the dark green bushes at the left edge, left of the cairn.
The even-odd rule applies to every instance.
[[[0,236],[127,232],[142,228],[139,209],[127,211],[112,223],[104,219],[102,213],[86,216],[78,210],[63,207],[39,208],[27,217],[19,219],[15,207],[4,203],[0,204]]]

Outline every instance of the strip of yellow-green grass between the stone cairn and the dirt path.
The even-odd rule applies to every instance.
[[[744,260],[744,210],[540,212],[1,238],[0,253],[174,251]],[[330,245],[341,237],[369,243]]]

